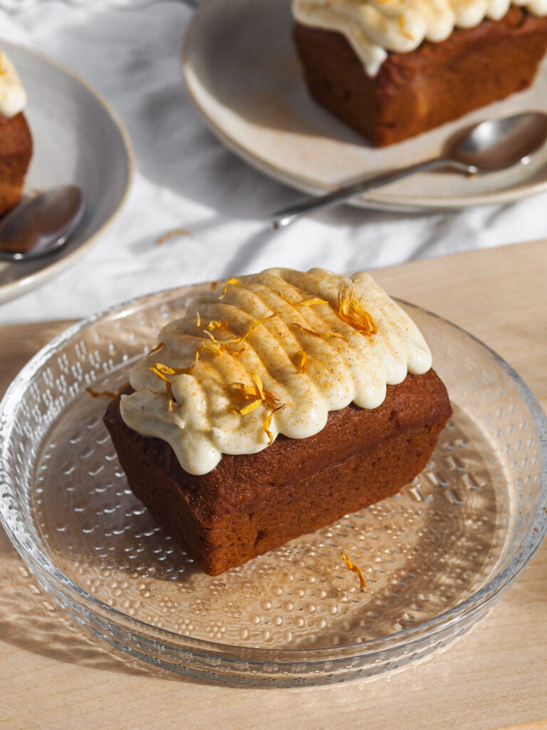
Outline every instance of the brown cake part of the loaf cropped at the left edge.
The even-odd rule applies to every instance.
[[[32,157],[32,137],[23,112],[0,115],[0,215],[18,204]]]

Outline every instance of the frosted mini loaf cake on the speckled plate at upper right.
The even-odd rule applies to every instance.
[[[527,88],[547,0],[293,0],[311,96],[391,145]]]

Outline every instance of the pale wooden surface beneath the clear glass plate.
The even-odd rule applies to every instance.
[[[547,242],[415,261],[375,277],[497,350],[546,409]],[[0,327],[0,393],[66,324]],[[547,728],[547,544],[483,621],[419,664],[330,687],[233,689],[169,675],[89,639],[0,528],[0,687],[0,729],[9,730]]]

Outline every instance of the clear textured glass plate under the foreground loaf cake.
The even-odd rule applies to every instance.
[[[470,629],[547,529],[546,418],[527,386],[465,331],[405,304],[454,405],[430,464],[399,495],[209,577],[128,489],[101,420],[108,400],[86,390],[128,380],[207,287],[85,320],[7,391],[0,518],[40,584],[109,645],[233,685],[368,677]]]

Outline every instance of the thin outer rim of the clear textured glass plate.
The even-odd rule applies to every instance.
[[[146,306],[147,304],[152,303],[154,299],[162,301],[166,298],[175,299],[179,296],[185,296],[185,294],[187,295],[190,291],[192,293],[198,293],[198,291],[202,288],[209,288],[210,284],[210,282],[202,282],[193,285],[182,285],[179,287],[166,288],[148,293],[144,296],[132,297],[120,304],[107,307],[101,312],[96,312],[83,320],[79,320],[63,330],[60,334],[48,342],[47,345],[44,345],[44,347],[42,347],[42,349],[39,350],[39,352],[36,353],[36,355],[31,358],[25,366],[23,366],[15,379],[12,380],[12,383],[9,385],[6,393],[4,393],[4,397],[0,401],[0,479],[4,480],[7,476],[7,472],[5,471],[3,464],[5,462],[4,453],[6,445],[9,443],[9,433],[11,431],[10,428],[7,429],[7,424],[9,426],[9,419],[7,419],[5,415],[8,407],[12,404],[14,399],[17,399],[16,395],[20,384],[30,382],[31,377],[39,372],[41,366],[48,360],[48,358],[50,358],[51,355],[53,355],[53,353],[55,353],[56,350],[58,350],[59,347],[61,347],[61,345],[69,342],[69,340],[76,334],[79,334],[79,332],[99,323],[107,317],[117,315],[118,318],[123,318],[123,316],[127,315],[132,309]],[[241,647],[238,645],[223,644],[222,642],[214,642],[207,639],[187,637],[184,634],[176,634],[174,631],[152,626],[150,623],[141,621],[139,618],[133,618],[131,615],[125,614],[122,611],[102,602],[100,599],[96,599],[88,593],[88,591],[85,591],[85,589],[81,588],[77,585],[77,583],[74,583],[69,577],[64,575],[47,555],[41,551],[38,551],[37,556],[28,553],[26,546],[23,545],[18,538],[18,535],[12,531],[11,526],[7,523],[4,516],[4,496],[0,496],[0,523],[4,527],[10,542],[12,542],[12,545],[14,545],[21,558],[23,558],[23,561],[31,567],[31,571],[37,577],[42,577],[42,571],[44,571],[47,577],[53,581],[55,585],[52,587],[48,583],[47,591],[54,593],[55,596],[57,595],[56,591],[60,590],[63,595],[68,591],[69,596],[66,597],[68,597],[69,601],[74,602],[74,600],[82,600],[83,605],[82,603],[79,603],[79,606],[85,608],[85,610],[90,610],[96,615],[96,618],[99,618],[102,621],[106,621],[108,623],[111,620],[109,617],[118,618],[126,625],[123,630],[127,630],[127,626],[131,627],[130,631],[132,631],[133,627],[136,630],[138,630],[139,627],[141,627],[141,629],[147,629],[147,632],[149,634],[153,634],[154,638],[151,636],[142,637],[132,631],[133,636],[138,636],[139,639],[144,640],[144,642],[154,642],[155,639],[158,638],[163,639],[167,645],[168,640],[170,640],[171,644],[168,645],[168,647],[166,646],[166,648],[170,651],[177,653],[191,650],[196,656],[198,656],[198,653],[201,653],[202,656],[208,657],[213,654],[221,658],[222,661],[230,661],[230,656],[234,653],[237,654],[237,657],[232,657],[235,661],[253,659],[261,663],[275,661],[276,664],[283,664],[283,660],[287,664],[293,664],[295,662],[298,662],[298,664],[306,664],[306,659],[309,664],[317,663],[317,661],[323,660],[322,654],[324,653],[328,653],[328,656],[325,658],[327,658],[331,663],[349,658],[362,658],[363,656],[372,657],[376,653],[392,650],[403,643],[405,645],[419,643],[420,640],[424,638],[424,635],[429,638],[435,637],[435,635],[440,634],[441,631],[447,629],[457,621],[469,618],[478,612],[481,607],[484,607],[485,610],[489,610],[489,607],[492,606],[493,602],[495,602],[495,600],[505,592],[513,581],[519,577],[522,570],[524,570],[529,561],[540,548],[540,545],[547,534],[547,415],[543,411],[535,394],[531,391],[527,383],[524,382],[519,373],[516,372],[513,366],[508,364],[504,358],[498,355],[495,350],[492,350],[491,347],[482,342],[481,339],[478,339],[478,337],[456,323],[453,323],[450,320],[441,317],[441,315],[437,315],[435,312],[425,309],[424,307],[412,304],[411,302],[403,299],[395,298],[395,301],[398,301],[403,306],[419,310],[432,318],[441,320],[443,323],[449,325],[451,328],[455,328],[457,331],[461,332],[483,348],[489,357],[492,358],[497,365],[501,366],[509,377],[511,377],[511,380],[519,391],[519,395],[529,409],[529,413],[534,420],[538,433],[541,454],[540,491],[533,517],[529,522],[527,539],[521,543],[521,549],[516,550],[513,553],[505,567],[494,575],[494,577],[490,578],[486,585],[479,588],[478,591],[469,596],[468,599],[465,599],[465,601],[454,605],[449,610],[443,611],[439,615],[419,623],[416,626],[401,629],[400,631],[396,631],[394,634],[387,634],[384,637],[368,639],[365,642],[355,642],[346,645],[337,645],[334,647],[319,646],[317,648],[270,649],[261,647]],[[28,537],[32,539],[30,536]],[[492,585],[493,583],[496,585]],[[66,606],[63,607],[66,608]],[[106,617],[103,614],[106,614]],[[185,642],[185,645],[177,646],[179,642]]]

